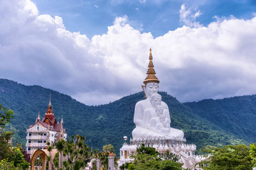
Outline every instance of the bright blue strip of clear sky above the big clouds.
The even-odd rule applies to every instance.
[[[67,30],[80,32],[92,38],[107,32],[114,18],[128,16],[129,24],[142,33],[150,32],[154,37],[168,33],[183,26],[180,20],[182,4],[192,13],[201,12],[196,21],[208,26],[216,21],[215,16],[249,19],[256,10],[255,0],[224,1],[173,1],[173,0],[112,0],[112,1],[66,1],[66,0],[33,0],[41,14],[60,16]]]

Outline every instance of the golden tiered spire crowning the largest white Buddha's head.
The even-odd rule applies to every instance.
[[[150,83],[150,82],[154,82],[154,83],[158,83],[159,84],[159,79],[157,79],[157,77],[155,76],[156,72],[154,71],[154,64],[152,62],[153,60],[153,57],[152,57],[152,52],[151,52],[151,48],[149,50],[149,69],[148,71],[146,72],[147,77],[146,79],[143,81],[143,83],[146,85],[147,83]]]

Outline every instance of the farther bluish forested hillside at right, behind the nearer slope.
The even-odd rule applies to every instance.
[[[193,113],[248,142],[256,142],[256,96],[184,103]]]

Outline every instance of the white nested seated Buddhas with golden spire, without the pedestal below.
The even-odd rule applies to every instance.
[[[161,101],[158,94],[159,79],[154,71],[151,49],[149,53],[149,69],[142,89],[146,99],[138,101],[134,111],[134,123],[136,128],[132,131],[133,138],[141,137],[165,137],[166,140],[174,137],[184,137],[182,130],[171,128],[169,108]]]

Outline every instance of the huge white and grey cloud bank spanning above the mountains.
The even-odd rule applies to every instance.
[[[38,14],[28,0],[1,1],[0,16],[0,77],[45,86],[86,104],[141,91],[149,47],[160,91],[179,101],[256,91],[256,17],[183,26],[153,38],[124,16],[90,40],[66,30],[59,16]]]

